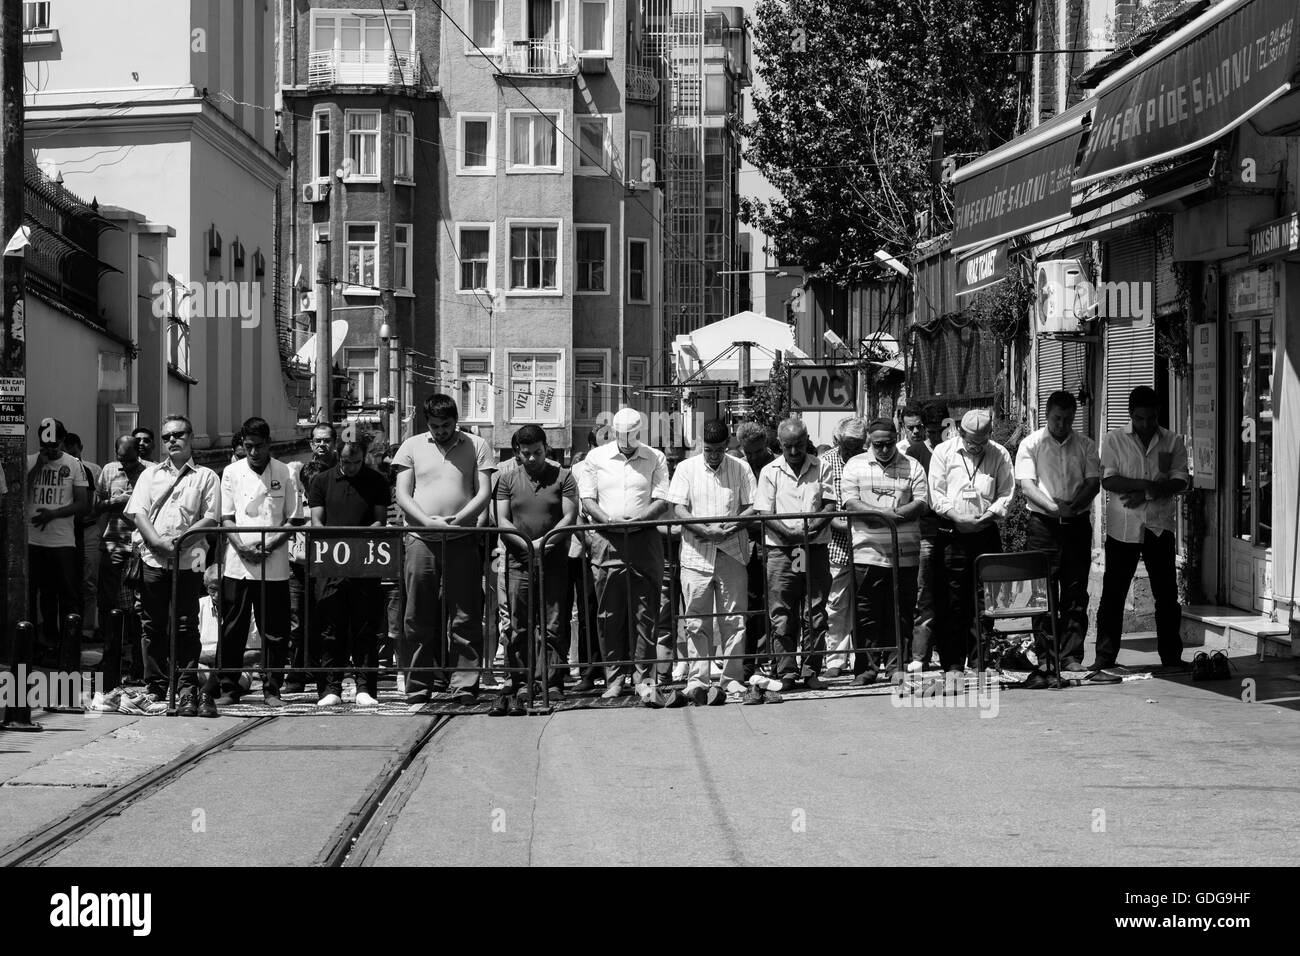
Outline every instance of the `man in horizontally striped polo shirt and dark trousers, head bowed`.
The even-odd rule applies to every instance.
[[[858,585],[857,646],[853,656],[853,683],[874,684],[879,676],[871,649],[878,639],[888,646],[894,622],[911,630],[916,613],[916,570],[920,563],[920,516],[930,497],[926,471],[898,453],[898,432],[889,419],[876,419],[867,427],[867,454],[844,467],[840,483],[845,511],[887,515],[897,523],[898,550],[889,529],[880,522],[853,524],[853,563]],[[894,605],[893,572],[898,575],[898,601]],[[897,617],[896,617],[897,615]],[[902,666],[902,661],[898,661]]]

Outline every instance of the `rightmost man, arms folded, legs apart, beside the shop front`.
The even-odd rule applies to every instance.
[[[1145,385],[1128,395],[1123,428],[1101,442],[1101,486],[1106,489],[1106,572],[1097,607],[1097,659],[1089,670],[1114,667],[1123,631],[1124,600],[1138,559],[1147,566],[1156,598],[1156,648],[1166,667],[1183,666],[1182,610],[1176,551],[1179,492],[1187,488],[1187,447],[1160,427],[1160,398]]]

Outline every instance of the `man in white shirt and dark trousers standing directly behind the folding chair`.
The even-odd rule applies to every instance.
[[[1074,431],[1078,402],[1069,392],[1048,395],[1046,424],[1020,441],[1015,453],[1015,480],[1028,510],[1026,548],[1052,555],[1057,589],[1057,632],[1061,659],[1048,666],[1052,674],[1083,671],[1083,639],[1088,633],[1088,571],[1092,567],[1092,515],[1089,506],[1101,490],[1101,460],[1097,445]],[[1036,635],[1039,670],[1026,687],[1043,688],[1048,680],[1043,662],[1052,662],[1056,649],[1046,630]],[[1113,683],[1098,672],[1097,683]]]

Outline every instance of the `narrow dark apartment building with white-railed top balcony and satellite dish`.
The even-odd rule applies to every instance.
[[[376,0],[281,0],[278,13],[287,372],[309,385],[328,289],[329,415],[396,440],[432,390],[419,367],[437,339],[439,16]]]

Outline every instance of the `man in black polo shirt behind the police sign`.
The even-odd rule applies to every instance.
[[[313,527],[384,527],[389,483],[364,462],[361,444],[347,441],[339,449],[338,464],[312,479],[307,505],[312,510]],[[378,544],[393,546],[391,541]],[[317,678],[321,706],[343,702],[343,667],[350,657],[354,667],[369,669],[356,674],[358,706],[378,704],[381,598],[376,578],[328,578],[321,583],[316,605],[321,617],[322,672]]]

